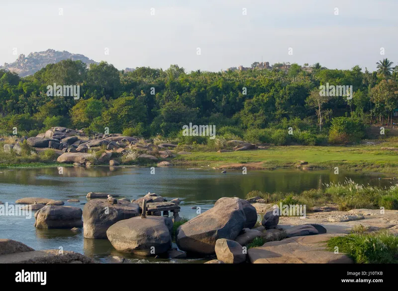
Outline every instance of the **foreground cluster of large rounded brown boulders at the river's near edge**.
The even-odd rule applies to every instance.
[[[330,234],[326,233],[325,227],[305,222],[279,225],[282,216],[278,206],[266,204],[260,197],[248,200],[222,197],[212,208],[182,224],[173,233],[173,223],[180,218],[180,199],[167,201],[154,193],[131,201],[116,199],[116,196],[91,192],[87,194],[83,211],[39,197],[22,198],[16,202],[43,205],[35,213],[36,228],[80,231],[83,227],[85,238],[108,239],[122,253],[165,258],[216,256],[207,262],[209,264],[351,262],[344,254],[334,255],[326,250],[322,242],[328,240]],[[256,204],[264,204],[264,208],[259,211]],[[169,217],[169,211],[174,213],[173,218]],[[261,224],[256,226],[258,213],[264,215]],[[319,238],[306,238],[314,235]],[[173,237],[178,248],[172,248]],[[261,245],[249,247],[256,239],[262,241]]]

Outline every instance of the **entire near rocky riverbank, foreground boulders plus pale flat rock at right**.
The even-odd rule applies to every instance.
[[[359,225],[370,233],[386,230],[398,234],[398,210],[337,211],[333,205],[325,205],[312,208],[304,217],[285,216],[278,206],[260,199],[223,197],[174,230],[173,224],[181,219],[180,199],[167,201],[151,193],[131,201],[105,193],[89,193],[87,199],[83,211],[40,197],[16,203],[43,205],[34,215],[36,228],[80,231],[83,227],[85,238],[108,239],[120,253],[163,259],[204,257],[207,263],[353,263],[344,253],[330,251],[326,242]],[[172,247],[174,240],[177,248]],[[58,250],[33,251],[27,246],[18,247],[27,252],[23,256],[10,255],[10,244],[18,245],[0,243],[0,263],[43,262],[46,253],[51,255],[50,262],[91,262],[79,254],[66,252],[65,259],[59,258]]]

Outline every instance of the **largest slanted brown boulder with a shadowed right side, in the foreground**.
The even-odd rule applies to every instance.
[[[234,240],[246,223],[242,200],[223,197],[177,229],[176,243],[186,252],[214,254],[217,239]]]

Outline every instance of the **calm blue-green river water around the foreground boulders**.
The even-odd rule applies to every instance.
[[[361,184],[390,186],[391,180],[379,180],[388,175],[342,173],[333,171],[303,172],[300,170],[227,171],[218,170],[156,168],[150,174],[149,168],[63,168],[63,175],[57,168],[47,169],[0,169],[0,201],[14,203],[22,197],[46,197],[56,200],[80,199],[79,203],[65,205],[83,208],[89,192],[105,192],[136,199],[144,194],[156,193],[166,197],[180,198],[180,216],[195,217],[196,209],[208,209],[220,197],[244,197],[248,192],[294,192],[299,193],[322,187],[323,183],[344,182],[346,178]],[[85,239],[83,233],[76,234],[63,229],[36,229],[34,217],[0,216],[0,238],[9,238],[36,249],[59,249],[75,251],[90,256],[99,262],[111,262],[112,256],[123,256],[132,262],[182,262],[179,260],[155,260],[118,253],[106,239]],[[184,260],[184,262],[186,262]],[[201,262],[191,260],[192,263]]]

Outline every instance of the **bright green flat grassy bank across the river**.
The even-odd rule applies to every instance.
[[[173,164],[209,166],[225,169],[296,168],[298,161],[308,162],[307,169],[331,169],[398,174],[398,151],[393,142],[356,146],[272,146],[262,150],[237,152],[192,152],[180,155]],[[397,148],[398,149],[398,148]]]

